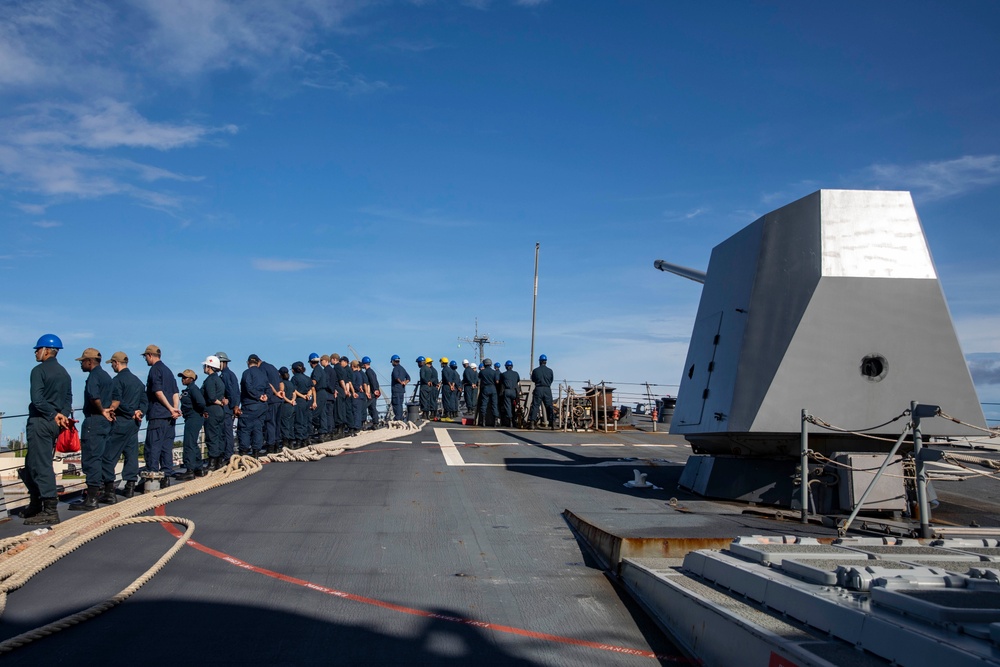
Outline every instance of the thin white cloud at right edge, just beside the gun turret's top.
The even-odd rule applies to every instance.
[[[914,164],[873,164],[863,178],[879,188],[910,190],[934,200],[1000,183],[1000,155],[965,155],[953,160]]]

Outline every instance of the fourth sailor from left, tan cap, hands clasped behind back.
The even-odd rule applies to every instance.
[[[181,397],[173,372],[160,359],[160,348],[147,345],[142,353],[149,366],[146,377],[146,470],[162,472],[160,488],[170,485],[174,474],[174,437],[177,418],[181,416]]]

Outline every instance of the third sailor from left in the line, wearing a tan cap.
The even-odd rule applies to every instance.
[[[122,463],[122,479],[125,488],[122,495],[131,498],[135,495],[135,483],[139,481],[139,426],[149,408],[146,388],[142,380],[137,378],[128,368],[128,355],[115,352],[108,360],[115,376],[111,379],[111,405],[105,411],[105,416],[113,418],[111,434],[104,446],[101,479],[104,481],[104,493],[99,501],[113,505],[115,498],[115,468],[118,460],[124,457]]]

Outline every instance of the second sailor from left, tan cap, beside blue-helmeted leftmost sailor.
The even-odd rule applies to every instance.
[[[83,388],[83,428],[80,429],[80,464],[87,478],[87,492],[83,501],[69,508],[90,511],[98,508],[102,492],[102,461],[112,421],[104,414],[104,409],[111,405],[111,376],[101,367],[101,353],[92,347],[84,350],[77,361],[80,370],[87,374]]]

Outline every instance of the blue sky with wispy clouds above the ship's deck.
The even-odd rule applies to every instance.
[[[676,384],[714,245],[913,193],[1000,403],[1000,5],[0,4],[0,410],[46,332],[175,371],[352,345]],[[144,365],[139,365],[144,375]],[[667,390],[672,393],[672,390]],[[987,406],[1000,418],[1000,408]]]

